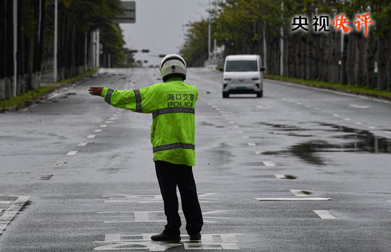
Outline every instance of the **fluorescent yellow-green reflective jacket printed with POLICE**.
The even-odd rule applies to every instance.
[[[138,90],[104,88],[101,96],[111,106],[152,113],[153,161],[195,165],[194,112],[198,91],[180,78]]]

